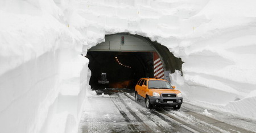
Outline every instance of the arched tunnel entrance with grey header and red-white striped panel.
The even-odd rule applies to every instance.
[[[168,48],[148,38],[131,34],[106,35],[105,42],[88,49],[89,85],[92,88],[134,88],[139,78],[161,77],[181,70]]]

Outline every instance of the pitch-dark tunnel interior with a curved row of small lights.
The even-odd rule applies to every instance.
[[[154,77],[152,52],[95,52],[86,55],[92,72],[92,88],[134,88],[142,77]],[[106,73],[109,84],[99,84]]]

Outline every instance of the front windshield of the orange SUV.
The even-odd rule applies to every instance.
[[[151,80],[151,81],[148,81],[148,89],[174,89],[174,88],[172,88],[172,86],[166,81]]]

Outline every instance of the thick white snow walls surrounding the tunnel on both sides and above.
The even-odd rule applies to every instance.
[[[181,57],[183,76],[176,71],[171,81],[186,101],[256,119],[255,5],[2,0],[0,132],[76,132],[90,90],[89,60],[80,54],[118,32],[156,40]]]

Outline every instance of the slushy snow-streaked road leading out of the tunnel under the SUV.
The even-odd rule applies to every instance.
[[[204,109],[188,103],[184,103],[179,111],[171,107],[148,110],[144,101],[134,101],[132,91],[105,89],[104,92],[104,95],[95,95],[86,101],[81,132],[256,131],[254,121],[214,111],[204,114]]]

